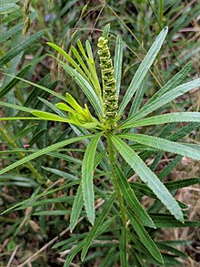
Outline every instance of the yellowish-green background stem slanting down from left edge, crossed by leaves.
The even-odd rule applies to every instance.
[[[5,131],[5,129],[0,128],[0,134],[3,137],[3,139],[5,139],[5,141],[10,145],[11,148],[13,148],[13,149],[19,149],[16,146],[15,141],[13,139],[10,139],[10,137],[8,136],[8,134]],[[19,154],[20,159],[25,158],[25,153],[18,152],[18,154]],[[39,182],[42,181],[42,180],[44,180],[44,177],[41,176],[41,174],[37,171],[37,169],[35,169],[35,167],[30,162],[26,162],[25,165],[35,175],[36,180],[38,180]]]

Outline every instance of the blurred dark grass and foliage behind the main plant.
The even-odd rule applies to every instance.
[[[46,56],[46,53],[55,53],[46,45],[46,42],[50,41],[63,47],[71,55],[71,45],[76,46],[78,39],[83,43],[89,39],[96,54],[97,39],[102,35],[105,25],[110,23],[109,44],[113,57],[116,36],[120,35],[124,42],[123,87],[121,88],[121,96],[123,96],[155,37],[164,26],[169,26],[165,45],[156,57],[151,73],[145,79],[143,100],[145,104],[158,88],[165,85],[187,62],[193,61],[193,67],[186,81],[198,77],[200,70],[199,10],[198,1],[143,0],[106,1],[105,3],[76,0],[1,0],[0,67],[11,76],[23,77],[62,95],[70,92],[79,103],[84,103],[85,96],[75,82],[50,56]],[[59,55],[55,54],[55,56],[59,58]],[[95,61],[98,63],[98,56],[95,56]],[[55,97],[37,87],[3,74],[1,87],[0,100],[13,105],[42,109],[45,105],[44,100],[40,101],[41,98],[52,103],[56,101]],[[157,114],[165,110],[199,111],[199,108],[200,93],[195,89],[165,105],[164,108],[160,108]],[[0,113],[1,117],[13,117],[20,116],[22,111],[1,107]],[[179,123],[168,128],[168,135],[178,133],[178,129],[187,127],[188,133],[183,137],[184,140],[199,145],[198,126],[196,123]],[[141,133],[158,136],[162,129],[160,127],[143,128]],[[5,168],[16,159],[24,158],[29,153],[25,149],[29,151],[42,149],[74,136],[72,129],[63,123],[1,122],[1,168]],[[26,145],[29,147],[26,148]],[[73,233],[70,233],[67,228],[77,188],[74,186],[65,191],[59,190],[66,184],[66,180],[80,177],[80,160],[83,159],[84,150],[83,145],[72,146],[69,151],[66,149],[65,156],[63,155],[61,159],[59,155],[49,153],[46,157],[27,162],[20,171],[15,170],[0,176],[0,211],[5,211],[11,205],[34,197],[38,193],[58,189],[51,194],[51,200],[44,197],[32,203],[31,206],[21,206],[19,210],[0,217],[0,264],[2,264],[0,266],[25,266],[25,264],[62,266],[67,253],[76,241],[81,241],[85,237],[90,227],[88,221],[84,220],[77,224]],[[200,176],[197,161],[170,153],[158,153],[154,157],[149,157],[146,162],[156,174],[163,175],[164,181]],[[38,176],[46,180],[45,186],[41,186],[40,181],[35,179]],[[104,179],[100,182],[100,177],[104,178],[101,172],[99,176],[96,175],[95,185],[99,190],[104,190],[107,184],[104,183]],[[132,179],[134,180],[135,177]],[[176,199],[188,205],[188,218],[191,221],[199,221],[199,190],[198,186],[193,185],[175,192]],[[100,201],[101,199],[97,199],[95,204]],[[150,199],[143,198],[143,204],[145,207],[151,207]],[[152,211],[154,212],[154,209]],[[112,255],[112,243],[117,241],[117,229],[115,233],[116,236],[112,236],[110,240],[110,255]],[[186,252],[189,258],[180,262],[183,262],[184,266],[197,266],[197,262],[200,261],[199,235],[198,228],[163,228],[156,232],[156,239],[169,241],[168,243],[181,240],[182,242],[178,243],[178,249]],[[105,241],[109,240],[107,236],[105,238],[107,238]],[[56,241],[64,241],[64,243],[56,245]],[[75,257],[75,263],[71,265],[105,266],[103,265],[104,246],[104,238],[102,238],[98,241],[98,245],[95,244],[89,251],[85,262],[81,262],[78,254]],[[109,247],[109,244],[107,246]],[[108,262],[107,266],[120,266],[117,257],[113,255],[111,257],[113,262]],[[179,266],[181,263],[170,264],[168,266]]]

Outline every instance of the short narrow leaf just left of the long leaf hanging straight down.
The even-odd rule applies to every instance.
[[[72,207],[72,213],[70,216],[69,228],[71,232],[75,229],[75,225],[78,221],[78,217],[80,215],[82,208],[83,208],[83,192],[82,192],[82,185],[80,184],[76,192],[75,200]]]

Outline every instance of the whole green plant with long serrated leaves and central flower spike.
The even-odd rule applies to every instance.
[[[159,36],[157,36],[153,46],[151,46],[140,67],[135,72],[135,76],[127,88],[121,103],[119,103],[118,98],[123,62],[123,43],[121,37],[117,36],[115,62],[113,66],[107,46],[109,26],[105,26],[103,36],[98,41],[98,55],[102,71],[102,88],[97,77],[95,59],[89,41],[86,41],[85,49],[80,40],[77,42],[80,52],[72,46],[71,50],[75,59],[66,54],[59,46],[48,43],[49,46],[52,46],[72,65],[70,67],[64,61],[53,56],[65,68],[66,72],[75,79],[78,86],[82,88],[91,104],[91,109],[93,108],[95,111],[94,114],[86,104],[85,108],[82,108],[70,94],[67,93],[66,97],[63,97],[54,90],[28,82],[21,77],[15,77],[15,79],[40,88],[63,100],[66,104],[64,102],[58,102],[54,105],[40,98],[48,108],[55,111],[55,113],[51,113],[0,102],[3,107],[15,108],[31,114],[31,117],[0,118],[1,120],[24,119],[27,121],[37,119],[64,122],[69,123],[78,135],[78,137],[65,139],[45,149],[39,149],[25,158],[22,157],[23,159],[19,159],[5,167],[5,169],[1,169],[0,174],[19,168],[27,164],[29,160],[49,154],[56,149],[63,149],[65,146],[81,140],[85,142],[86,149],[83,161],[81,162],[81,180],[69,182],[58,190],[65,190],[66,188],[78,185],[70,214],[70,230],[74,231],[80,213],[82,212],[84,214],[82,211],[83,202],[86,217],[93,226],[87,236],[84,236],[84,239],[83,236],[77,238],[80,242],[67,255],[65,266],[69,265],[77,252],[82,250],[81,259],[84,261],[91,245],[100,246],[102,244],[105,245],[106,250],[100,255],[103,256],[106,252],[108,252],[108,255],[111,255],[115,252],[115,257],[112,257],[112,259],[115,262],[120,257],[122,266],[127,266],[128,264],[147,266],[147,263],[153,263],[159,266],[166,264],[167,266],[168,262],[173,266],[180,263],[175,260],[175,257],[186,257],[183,252],[179,252],[165,243],[165,241],[154,241],[153,239],[156,228],[199,225],[198,222],[186,220],[184,211],[182,211],[182,209],[185,209],[185,204],[176,201],[173,197],[174,190],[195,184],[199,182],[199,179],[191,178],[189,180],[163,183],[155,175],[155,172],[152,170],[153,168],[150,169],[145,164],[145,159],[150,155],[155,154],[159,156],[159,153],[163,150],[195,160],[200,159],[198,147],[193,144],[176,142],[182,136],[184,137],[188,134],[188,128],[182,128],[179,135],[167,137],[169,123],[195,122],[195,126],[193,124],[193,127],[197,128],[200,122],[199,112],[175,112],[147,117],[175,98],[200,86],[199,78],[180,85],[188,73],[191,63],[187,64],[175,77],[172,77],[164,87],[160,88],[140,108],[145,91],[143,81],[155,60],[155,56],[157,56],[165,41],[166,34],[167,28],[165,27]],[[131,102],[134,95],[135,98],[132,101],[128,118],[123,119],[122,116],[125,108]],[[160,133],[160,136],[151,136],[136,132],[137,127],[155,126],[159,124],[168,124],[168,128],[165,127],[163,132]],[[1,132],[3,136],[5,135],[6,139],[4,129],[1,129]],[[106,141],[104,141],[105,139]],[[128,140],[129,143],[126,144],[123,139]],[[98,166],[100,166],[99,169],[97,169]],[[29,168],[31,167],[29,166]],[[33,169],[33,171],[35,170]],[[96,173],[94,175],[95,171]],[[133,172],[140,178],[140,182],[128,182]],[[102,176],[106,177],[107,183],[112,184],[113,189],[112,186],[109,186],[107,190],[100,190],[94,185],[94,177],[100,180]],[[42,185],[45,184],[45,179],[36,172],[35,180]],[[45,193],[38,194],[29,200],[17,203],[15,206],[4,211],[3,214],[16,208],[25,209],[29,206],[34,206],[36,203],[35,200],[53,192],[54,190],[47,190]],[[148,209],[145,209],[141,204],[144,195],[155,200],[153,206],[148,207]],[[105,204],[103,203],[104,201],[102,202],[104,204],[104,210],[99,213],[97,219],[95,219],[95,197],[97,199],[102,198],[105,201]],[[156,211],[161,212],[156,214]],[[107,220],[105,221],[105,219]],[[112,241],[113,236],[119,237],[117,242]],[[100,242],[94,241],[96,237],[99,237]],[[104,243],[104,241],[107,242]],[[61,246],[61,251],[65,251],[68,248],[69,242],[69,240],[58,242],[55,248]],[[131,249],[134,250],[134,253],[127,253],[130,250],[129,244],[131,245]],[[163,251],[172,252],[173,256]],[[101,266],[106,266],[106,264],[107,266],[113,264],[113,262],[110,262],[108,256],[105,257]]]

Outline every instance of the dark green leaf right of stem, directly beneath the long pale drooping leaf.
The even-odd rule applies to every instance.
[[[130,184],[126,180],[125,174],[123,171],[117,167],[116,165],[113,165],[113,168],[115,170],[115,175],[117,178],[117,181],[120,186],[120,190],[122,190],[123,197],[127,201],[128,207],[135,212],[136,216],[143,221],[145,226],[155,228],[154,221],[152,221],[151,217],[147,214],[147,212],[144,210],[143,206],[140,204],[139,200],[137,200],[135,196],[134,190],[131,189]]]

